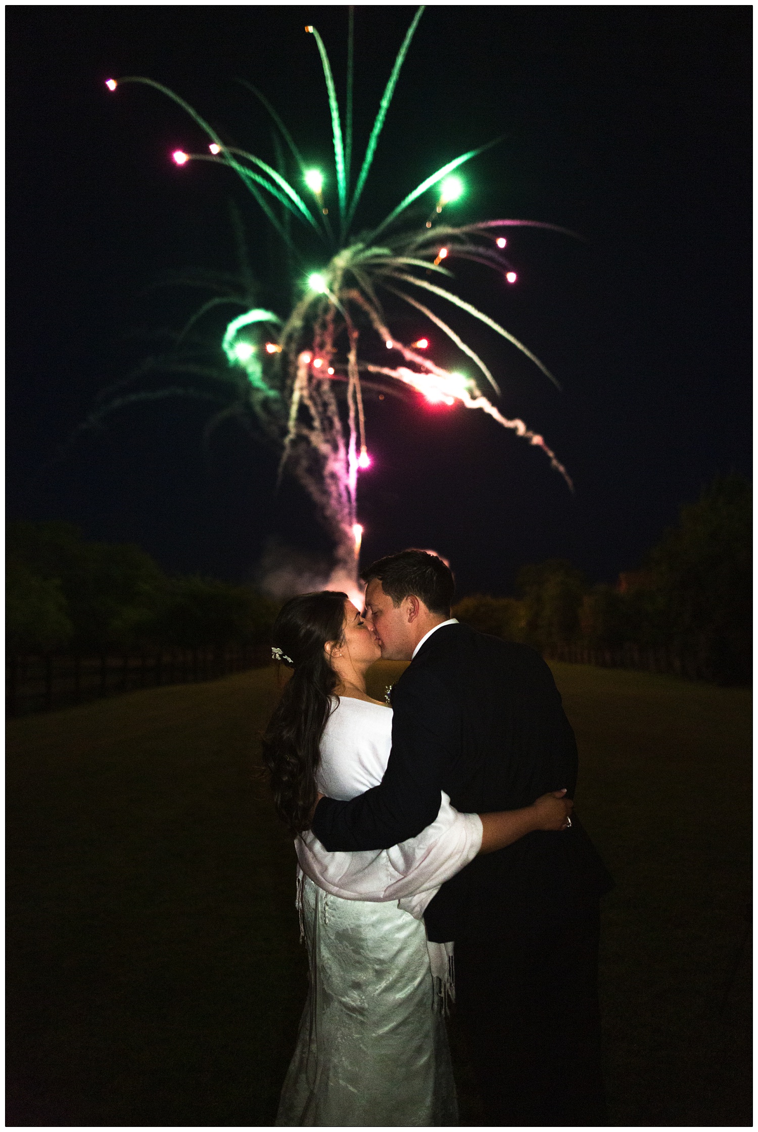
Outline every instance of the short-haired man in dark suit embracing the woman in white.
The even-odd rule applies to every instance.
[[[367,572],[365,616],[386,660],[410,660],[393,692],[381,783],[322,798],[329,851],[387,849],[437,817],[531,805],[563,787],[577,753],[550,669],[525,645],[450,617],[453,574],[404,550]],[[492,1125],[602,1125],[598,898],[611,878],[576,818],[480,856],[427,908],[430,940],[455,941],[456,1010]]]

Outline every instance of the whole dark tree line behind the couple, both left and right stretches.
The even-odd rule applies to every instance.
[[[569,561],[551,559],[522,568],[518,597],[467,597],[454,612],[549,657],[575,646],[663,650],[701,678],[747,683],[751,516],[749,482],[720,477],[615,585],[592,585]],[[278,610],[249,586],[170,577],[138,547],[86,542],[69,523],[9,524],[7,559],[7,644],[16,655],[265,645]]]

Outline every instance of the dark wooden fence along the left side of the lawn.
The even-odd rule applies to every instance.
[[[28,715],[136,688],[213,680],[262,666],[268,657],[269,650],[260,645],[225,651],[176,649],[100,657],[8,657],[6,712],[11,717]]]

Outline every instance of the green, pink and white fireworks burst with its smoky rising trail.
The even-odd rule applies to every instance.
[[[315,234],[324,248],[322,259],[304,272],[296,290],[294,307],[279,318],[260,308],[244,309],[226,326],[221,343],[230,367],[226,404],[217,417],[247,412],[262,427],[265,435],[279,448],[279,473],[293,473],[310,494],[336,543],[337,571],[350,581],[358,576],[358,556],[363,528],[358,522],[358,475],[371,466],[365,441],[363,388],[387,393],[402,391],[421,395],[430,404],[464,405],[479,409],[502,428],[510,429],[532,445],[540,447],[551,465],[570,480],[563,466],[544,443],[518,419],[509,420],[485,397],[470,374],[448,371],[431,357],[419,353],[430,350],[430,340],[420,337],[407,345],[389,331],[379,295],[391,297],[431,323],[472,363],[496,394],[500,389],[492,372],[474,350],[453,329],[437,310],[422,303],[413,293],[423,291],[430,300],[449,303],[486,326],[494,334],[529,358],[554,381],[546,367],[494,319],[462,299],[453,289],[453,260],[473,260],[492,268],[508,283],[517,274],[502,258],[506,238],[493,230],[518,225],[555,228],[534,221],[496,220],[455,226],[442,223],[441,214],[465,196],[465,185],[456,172],[481,154],[486,145],[447,162],[428,177],[372,230],[355,234],[353,222],[371,170],[387,111],[400,68],[421,18],[419,8],[395,60],[373,123],[367,152],[353,182],[352,158],[352,9],[348,31],[348,76],[345,118],[331,74],[324,42],[312,25],[305,32],[313,36],[327,88],[334,148],[334,181],[315,168],[305,168],[290,131],[266,97],[249,87],[268,111],[276,138],[275,169],[255,154],[225,145],[216,131],[179,95],[149,78],[109,79],[110,91],[129,83],[140,83],[160,91],[179,104],[209,139],[205,153],[175,149],[171,156],[176,165],[209,161],[232,170],[243,182],[268,222],[276,229],[292,255],[300,254],[294,235],[296,225]],[[244,84],[249,86],[249,84]],[[494,143],[490,143],[492,145]],[[286,160],[285,160],[286,152]],[[291,175],[292,170],[295,175]],[[298,187],[302,187],[299,191]],[[308,190],[308,191],[305,191]],[[333,206],[331,214],[327,204]],[[303,196],[304,194],[304,196]],[[423,198],[431,201],[423,207]],[[421,215],[412,209],[419,201]],[[430,204],[432,206],[429,213]],[[336,205],[336,207],[335,207]],[[278,206],[277,211],[274,207]],[[283,216],[286,216],[286,221]],[[424,218],[424,217],[429,218]],[[562,231],[562,230],[560,230]],[[309,245],[310,247],[310,245]],[[307,259],[305,259],[307,261]],[[434,278],[436,282],[430,282]],[[440,284],[445,285],[440,285]],[[212,299],[198,311],[183,334],[219,302],[248,306],[246,295],[230,294]],[[387,352],[386,361],[377,361],[377,346]],[[359,349],[361,351],[359,355]],[[391,354],[390,354],[391,352]],[[399,355],[399,358],[398,358]],[[181,369],[179,361],[172,366]],[[190,367],[187,368],[187,372]],[[195,367],[197,376],[197,367]],[[243,384],[234,374],[243,374]],[[233,391],[233,393],[232,393]],[[180,392],[176,387],[165,395]],[[143,393],[141,396],[158,395]],[[200,395],[198,393],[198,395]],[[139,400],[133,393],[121,397]],[[217,398],[218,400],[218,398]],[[222,396],[222,405],[224,400]],[[341,402],[346,408],[341,411]],[[343,415],[344,414],[344,415]]]

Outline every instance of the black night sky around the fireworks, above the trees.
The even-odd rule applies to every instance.
[[[356,8],[359,154],[413,11]],[[455,217],[548,221],[585,242],[514,230],[518,283],[464,272],[459,286],[562,392],[496,335],[470,340],[503,412],[544,435],[576,494],[482,414],[374,402],[364,561],[433,547],[462,593],[507,593],[522,564],[548,557],[612,581],[716,473],[750,474],[750,20],[747,6],[428,8],[359,220],[505,134],[462,171]],[[152,349],[140,328],[198,302],[146,289],[167,269],[233,269],[230,197],[260,299],[277,302],[281,257],[252,198],[225,170],[176,169],[167,154],[199,147],[197,129],[157,92],[111,95],[104,79],[162,82],[270,160],[265,113],[234,83],[247,78],[326,168],[303,26],[321,32],[342,88],[346,9],[10,7],[7,23],[9,517],[69,520],[167,569],[230,580],[251,578],[272,539],[322,552],[299,492],[275,494],[275,458],[234,426],[204,451],[193,402],[124,410],[58,453]]]

